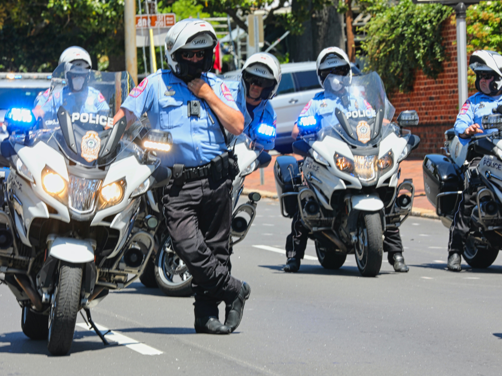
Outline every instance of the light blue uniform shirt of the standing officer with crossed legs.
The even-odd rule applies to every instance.
[[[224,104],[238,110],[230,90],[221,79],[212,73],[203,74],[201,79]],[[191,100],[200,101],[200,117],[188,116],[187,102]],[[172,167],[175,163],[187,167],[201,166],[228,150],[209,105],[188,90],[187,84],[170,70],[159,70],[145,78],[121,107],[133,112],[138,119],[146,112],[152,129],[171,132],[172,149],[167,153],[157,153],[165,166]]]

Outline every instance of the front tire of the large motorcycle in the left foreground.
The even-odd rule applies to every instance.
[[[81,265],[62,261],[49,314],[47,349],[53,355],[66,355],[70,350],[77,321],[81,284]]]

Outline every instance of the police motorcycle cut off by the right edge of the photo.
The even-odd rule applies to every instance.
[[[462,198],[464,184],[476,192],[471,228],[462,254],[473,268],[487,268],[498,256],[502,240],[502,106],[481,120],[493,133],[461,142],[452,129],[445,132],[446,155],[424,158],[424,189],[443,225],[450,228]],[[475,168],[468,168],[474,157],[481,157]]]

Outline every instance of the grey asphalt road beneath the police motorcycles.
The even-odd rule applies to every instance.
[[[258,214],[232,256],[233,274],[252,287],[233,334],[196,334],[193,298],[135,283],[92,309],[121,345],[103,347],[77,326],[70,354],[54,357],[45,341],[23,334],[21,308],[1,285],[0,375],[501,373],[502,257],[486,270],[448,272],[447,229],[410,217],[402,228],[407,274],[385,261],[378,277],[362,278],[353,255],[325,270],[311,241],[300,272],[285,274],[285,256],[273,250],[284,249],[290,221],[275,201],[262,200]]]

